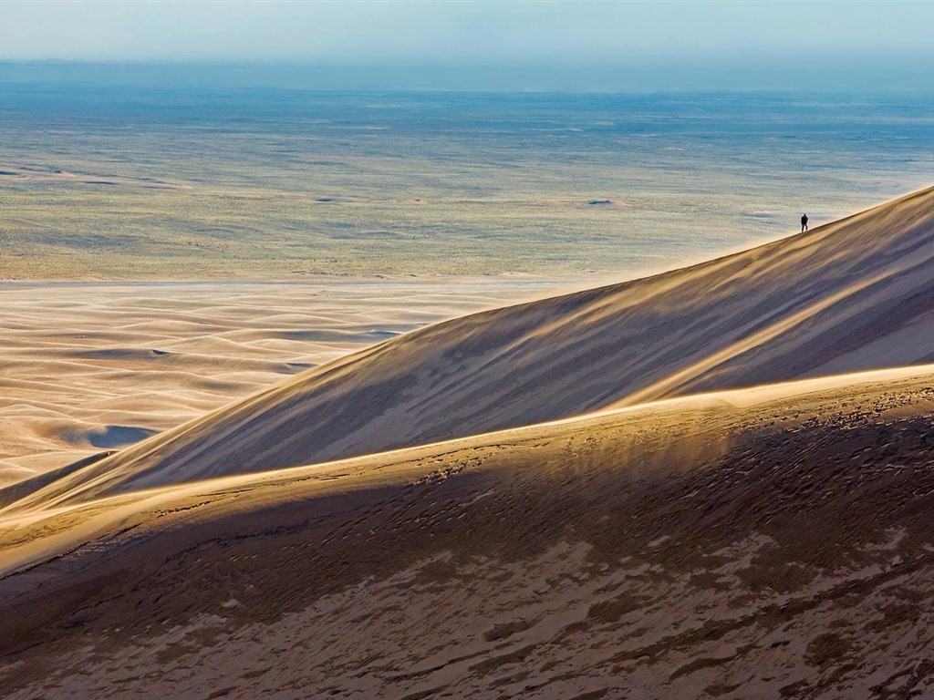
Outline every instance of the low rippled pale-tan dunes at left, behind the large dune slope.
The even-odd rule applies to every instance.
[[[0,284],[0,485],[125,447],[310,367],[537,287],[475,279]]]

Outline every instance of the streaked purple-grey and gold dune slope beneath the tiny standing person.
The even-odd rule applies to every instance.
[[[934,358],[934,189],[635,282],[345,357],[24,504],[365,455],[626,405]]]

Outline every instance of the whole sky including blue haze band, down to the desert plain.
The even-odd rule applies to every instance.
[[[934,3],[904,1],[10,0],[0,3],[0,78],[200,76],[327,90],[930,91],[931,26]]]

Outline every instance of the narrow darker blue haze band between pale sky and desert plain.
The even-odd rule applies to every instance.
[[[597,66],[313,65],[278,62],[2,61],[0,85],[494,92],[934,94],[934,56],[826,65],[630,63]]]

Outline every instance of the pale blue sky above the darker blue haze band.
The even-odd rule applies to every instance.
[[[502,69],[530,83],[536,71],[644,68],[677,82],[786,68],[786,82],[817,72],[829,84],[868,68],[864,82],[916,84],[934,64],[932,26],[931,2],[7,0],[0,61],[433,69],[474,81]]]

